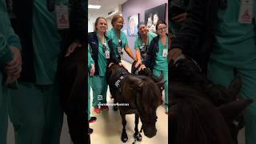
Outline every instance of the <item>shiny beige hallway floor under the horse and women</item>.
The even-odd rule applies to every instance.
[[[124,62],[126,68],[130,70],[130,63]],[[90,100],[92,102],[92,90],[90,90]],[[112,103],[113,99],[110,99],[110,92],[107,92],[107,102]],[[123,144],[121,141],[122,134],[122,119],[119,111],[114,111],[113,106],[110,106],[110,110],[101,111],[100,114],[95,114],[93,107],[91,106],[91,116],[96,116],[97,121],[90,123],[90,128],[94,129],[93,134],[90,134],[91,144]],[[156,122],[157,134],[154,138],[146,138],[142,132],[142,142],[136,142],[140,144],[167,144],[168,143],[168,115],[165,114],[164,106],[159,106],[157,110],[158,121]],[[128,135],[127,144],[134,142],[134,114],[126,115],[126,133]],[[138,123],[138,129],[141,128],[141,122]],[[238,144],[245,144],[244,129],[238,134]],[[9,122],[7,144],[14,144],[14,129]],[[60,144],[73,144],[70,140],[70,134],[66,122],[66,115],[64,115],[64,121],[62,126],[61,142]]]

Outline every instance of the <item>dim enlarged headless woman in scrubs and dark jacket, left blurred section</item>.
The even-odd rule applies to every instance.
[[[68,0],[54,2],[55,5],[69,5]],[[18,79],[18,90],[10,90],[9,114],[15,142],[58,144],[63,111],[57,82],[58,60],[62,50],[57,10],[49,10],[47,1],[42,0],[34,0],[31,5],[19,1],[14,1],[14,4],[17,22],[24,19],[19,23],[21,25],[15,26],[22,39],[23,73],[22,78]],[[21,4],[31,11],[33,9],[33,14],[23,14],[30,10],[21,10]],[[31,27],[22,25],[26,22],[31,22]],[[27,34],[22,33],[25,30]]]

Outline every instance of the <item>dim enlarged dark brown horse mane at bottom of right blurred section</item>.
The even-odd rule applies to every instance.
[[[233,144],[226,121],[196,90],[175,91],[170,112],[172,144]]]

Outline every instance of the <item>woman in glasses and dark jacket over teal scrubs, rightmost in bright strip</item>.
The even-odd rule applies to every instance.
[[[166,114],[168,114],[168,36],[166,34],[167,26],[165,22],[158,21],[156,25],[158,37],[150,42],[149,49],[146,52],[145,65],[153,70],[155,76],[163,74],[165,83],[165,101]]]

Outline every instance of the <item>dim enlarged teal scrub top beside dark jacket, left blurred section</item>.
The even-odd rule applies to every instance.
[[[56,5],[68,5],[57,0]],[[36,84],[50,85],[55,81],[62,38],[58,33],[56,12],[47,9],[47,1],[34,1],[33,45]]]

